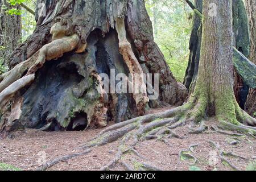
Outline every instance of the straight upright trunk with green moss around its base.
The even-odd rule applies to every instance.
[[[216,15],[210,14],[210,3],[217,5]],[[210,116],[216,115],[218,119],[236,123],[238,105],[232,76],[232,1],[204,1],[203,16],[199,72],[192,97],[198,97],[201,105],[197,113],[208,111]]]

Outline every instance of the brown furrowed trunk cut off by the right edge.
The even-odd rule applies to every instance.
[[[249,18],[249,29],[251,38],[251,49],[249,59],[256,64],[256,1],[246,0],[246,11]],[[247,97],[246,111],[256,117],[256,89],[250,89],[249,96]]]

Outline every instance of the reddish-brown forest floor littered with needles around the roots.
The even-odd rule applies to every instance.
[[[162,110],[153,110],[151,113],[159,111]],[[230,165],[221,161],[219,151],[213,148],[209,141],[218,143],[224,151],[241,156],[242,158],[225,156],[240,170],[245,170],[246,166],[256,158],[256,139],[253,137],[244,135],[232,137],[212,130],[202,134],[188,134],[187,130],[187,127],[175,129],[175,132],[183,138],[167,139],[169,144],[158,139],[139,142],[135,149],[140,156],[127,153],[122,160],[134,169],[139,169],[140,163],[147,163],[163,170],[232,170]],[[32,129],[16,131],[0,139],[0,171],[1,169],[34,170],[45,160],[81,152],[80,146],[100,131],[100,129],[56,132]],[[192,150],[185,152],[189,154],[188,156],[180,155],[181,151],[189,150],[193,145],[195,147],[192,147]],[[62,161],[47,170],[99,170],[114,158],[117,146],[118,141],[115,141],[93,148],[88,154]],[[194,156],[196,162],[190,156]],[[112,170],[123,170],[123,166],[117,164]]]

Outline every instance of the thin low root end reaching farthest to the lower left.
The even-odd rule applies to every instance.
[[[92,151],[92,149],[88,149],[88,150],[85,150],[85,151],[83,151],[83,152],[76,153],[76,154],[70,154],[70,155],[61,156],[61,157],[59,157],[59,158],[50,160],[50,161],[47,162],[46,164],[43,164],[42,166],[36,168],[36,171],[44,171],[44,170],[46,170],[47,168],[52,167],[52,166],[54,166],[54,165],[60,163],[61,161],[67,161],[67,160],[69,160],[69,159],[71,159],[71,158],[75,158],[75,157],[80,156],[80,155],[88,154],[90,151]]]

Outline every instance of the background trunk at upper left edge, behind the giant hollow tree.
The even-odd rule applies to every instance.
[[[20,6],[12,7],[8,1],[0,0],[0,59],[3,59],[5,64],[8,64],[7,57],[18,47],[21,38],[21,16],[6,13],[11,8],[20,10]]]

